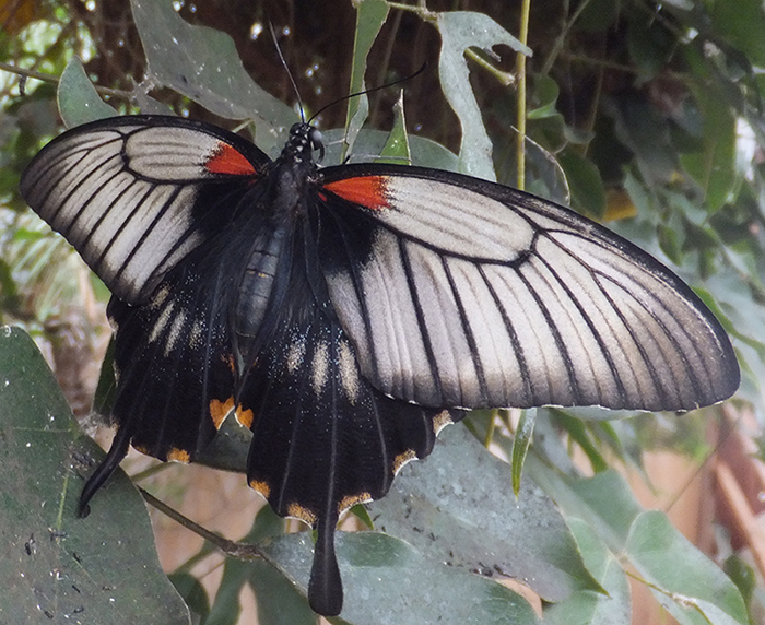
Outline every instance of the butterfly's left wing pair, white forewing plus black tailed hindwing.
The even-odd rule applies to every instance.
[[[21,181],[28,204],[111,290],[118,426],[81,506],[132,443],[193,460],[234,411],[240,255],[270,160],[222,129],[175,117],[110,118],[51,141]]]

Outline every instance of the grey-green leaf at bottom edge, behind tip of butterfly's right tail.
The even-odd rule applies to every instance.
[[[338,562],[345,601],[336,623],[352,625],[530,625],[539,620],[504,586],[434,564],[405,542],[378,532],[338,532]],[[305,594],[313,541],[308,532],[260,543]]]

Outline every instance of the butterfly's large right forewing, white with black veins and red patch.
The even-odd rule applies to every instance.
[[[570,210],[433,169],[322,173],[322,270],[382,392],[432,406],[691,410],[738,388],[701,299]]]

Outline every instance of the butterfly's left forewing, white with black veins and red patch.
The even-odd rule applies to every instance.
[[[220,233],[269,158],[177,117],[116,117],[51,141],[21,180],[30,207],[123,302],[140,304]]]

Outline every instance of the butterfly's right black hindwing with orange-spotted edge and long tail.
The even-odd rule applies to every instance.
[[[342,606],[338,519],[382,497],[401,467],[427,456],[438,431],[462,414],[391,399],[362,376],[319,270],[316,216],[284,246],[274,278],[284,296],[268,311],[276,330],[243,376],[237,409],[254,435],[250,486],[279,515],[318,529],[309,601],[334,615]]]

